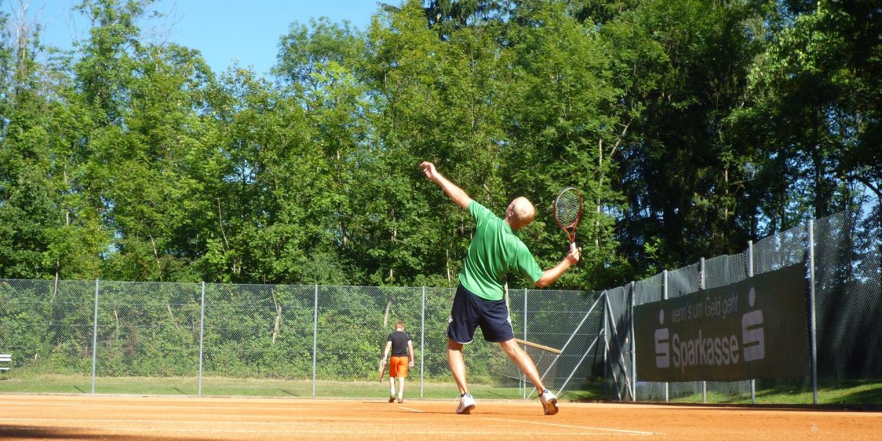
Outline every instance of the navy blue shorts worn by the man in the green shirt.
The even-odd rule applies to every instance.
[[[514,338],[505,300],[483,299],[460,285],[453,297],[447,337],[457,343],[471,343],[478,326],[484,340],[498,343]]]

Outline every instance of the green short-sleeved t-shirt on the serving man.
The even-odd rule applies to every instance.
[[[460,271],[464,288],[487,300],[502,300],[506,273],[516,271],[534,283],[542,277],[542,268],[507,222],[474,200],[468,213],[475,216],[477,228]]]

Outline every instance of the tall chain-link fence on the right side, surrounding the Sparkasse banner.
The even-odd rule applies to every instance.
[[[865,403],[882,402],[882,216],[876,212],[842,212],[749,243],[734,256],[702,259],[632,285],[634,304],[658,302],[699,289],[725,287],[755,274],[805,263],[806,344],[811,345],[813,374],[789,379],[736,382],[637,382],[636,400]],[[623,287],[627,288],[627,287]],[[610,296],[610,301],[615,300]],[[627,302],[627,301],[625,301]],[[630,318],[614,314],[618,325]],[[624,327],[624,326],[623,326]],[[633,351],[627,344],[623,352]],[[651,349],[648,349],[651,350]],[[639,370],[639,366],[636,367]],[[618,372],[621,377],[634,372]],[[843,390],[856,391],[850,393]],[[818,399],[818,391],[821,393]],[[875,391],[875,392],[874,392]],[[828,396],[825,397],[824,394]]]

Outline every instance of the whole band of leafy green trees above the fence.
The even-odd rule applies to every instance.
[[[579,187],[557,288],[878,223],[874,2],[409,0],[292,24],[273,78],[146,38],[153,6],[78,4],[76,53],[0,17],[0,277],[451,287],[473,225],[423,160],[497,213],[530,198],[544,267]]]

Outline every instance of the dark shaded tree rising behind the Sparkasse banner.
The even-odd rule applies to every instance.
[[[643,49],[651,81],[629,91],[641,108],[620,156],[628,208],[619,236],[637,268],[739,251],[750,238],[738,213],[751,153],[726,141],[723,121],[741,104],[761,49],[751,23],[763,17],[762,6],[647,1],[611,22],[639,26],[638,36],[651,41],[638,43],[663,51],[662,58]]]

